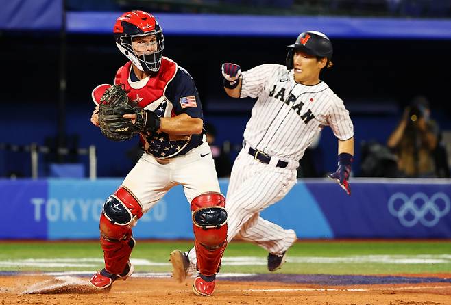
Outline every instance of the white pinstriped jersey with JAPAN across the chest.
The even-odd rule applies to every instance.
[[[339,140],[354,136],[343,101],[324,83],[302,85],[293,70],[264,64],[243,72],[241,98],[258,98],[244,132],[255,149],[284,160],[299,161],[304,151],[330,126]]]

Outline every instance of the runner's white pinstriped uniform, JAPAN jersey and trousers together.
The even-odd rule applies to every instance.
[[[258,100],[230,175],[227,239],[252,241],[283,255],[297,239],[295,231],[263,219],[260,211],[282,200],[295,185],[298,161],[324,126],[340,140],[353,137],[354,127],[343,101],[326,83],[296,83],[293,70],[285,66],[265,64],[243,72],[241,97],[246,96]],[[265,152],[269,163],[259,161],[249,146]],[[195,264],[195,251],[188,257]]]

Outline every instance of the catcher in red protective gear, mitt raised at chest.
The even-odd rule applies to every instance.
[[[199,92],[188,71],[163,56],[164,36],[154,16],[125,12],[114,23],[113,33],[128,61],[117,70],[115,85],[93,90],[96,107],[90,121],[114,141],[137,133],[144,152],[103,204],[99,230],[105,267],[89,282],[96,289],[109,289],[114,281],[132,275],[132,228],[169,189],[182,185],[191,206],[198,258],[193,293],[212,295],[228,226],[226,198],[202,132]]]

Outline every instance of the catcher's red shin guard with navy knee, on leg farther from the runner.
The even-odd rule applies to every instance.
[[[143,215],[141,205],[130,191],[119,187],[110,196],[100,216],[100,243],[105,269],[111,274],[121,274],[136,243],[132,226]]]

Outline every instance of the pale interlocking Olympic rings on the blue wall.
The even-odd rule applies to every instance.
[[[406,227],[415,226],[418,222],[423,226],[435,226],[450,211],[450,207],[450,198],[442,192],[435,193],[431,198],[420,192],[411,198],[404,193],[395,193],[388,202],[391,215],[398,217]]]

